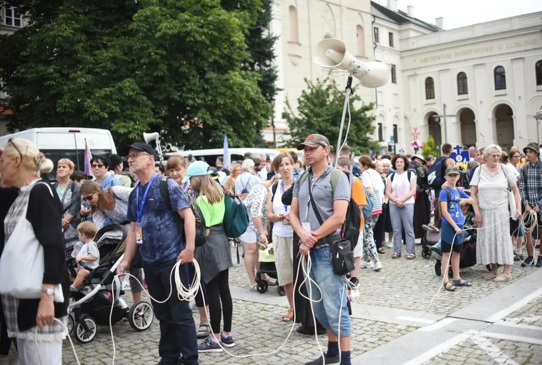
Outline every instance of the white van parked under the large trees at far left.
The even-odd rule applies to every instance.
[[[85,170],[85,140],[93,156],[116,154],[117,149],[111,132],[95,128],[33,128],[0,137],[0,147],[4,148],[10,138],[25,138],[34,142],[37,148],[53,160],[69,158],[76,170]]]

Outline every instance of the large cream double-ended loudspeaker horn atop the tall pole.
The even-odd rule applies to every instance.
[[[352,72],[352,76],[366,88],[378,88],[388,82],[390,69],[378,61],[360,61],[346,50],[346,43],[340,39],[328,38],[317,43],[315,64],[327,69]]]

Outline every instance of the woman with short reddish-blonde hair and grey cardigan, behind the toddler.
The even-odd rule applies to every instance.
[[[79,208],[81,207],[81,193],[78,184],[70,180],[75,164],[69,158],[61,158],[56,163],[56,183],[54,188],[62,203],[62,229],[64,230],[64,244],[66,244],[66,258],[72,255],[73,245],[78,241],[77,224],[80,222]]]

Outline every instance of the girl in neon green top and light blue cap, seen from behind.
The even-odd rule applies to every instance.
[[[229,268],[231,250],[228,236],[224,231],[224,193],[219,184],[211,177],[212,170],[203,161],[192,162],[186,170],[183,183],[190,180],[192,188],[198,193],[196,204],[201,209],[207,228],[207,242],[195,252],[195,259],[201,268],[202,280],[209,298],[209,316],[212,334],[200,343],[198,351],[220,352],[224,347],[234,347],[231,336],[231,318],[233,302],[229,287]],[[224,316],[224,327],[220,331],[221,317]]]

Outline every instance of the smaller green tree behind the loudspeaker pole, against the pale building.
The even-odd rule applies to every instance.
[[[285,118],[290,131],[289,140],[285,141],[284,147],[295,147],[300,141],[305,140],[309,133],[319,133],[326,136],[330,143],[335,146],[339,138],[340,120],[343,114],[345,91],[337,87],[334,79],[318,79],[316,83],[305,79],[307,87],[298,98],[298,110],[295,112],[291,104],[286,100],[286,110],[282,117]],[[356,95],[355,89],[350,97],[351,125],[347,143],[353,151],[367,152],[375,150],[378,145],[371,139],[375,127],[375,116],[370,115],[375,104],[363,104],[356,108],[354,103],[361,98]],[[348,127],[348,114],[346,114],[343,140]],[[336,147],[335,147],[336,148]]]

